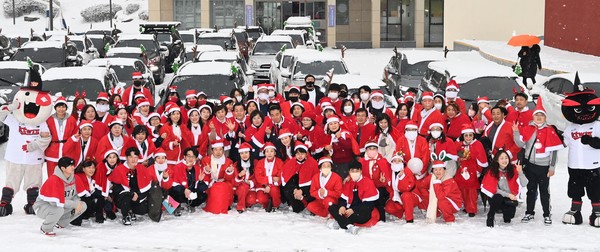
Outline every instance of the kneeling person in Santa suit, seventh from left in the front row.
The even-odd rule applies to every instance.
[[[239,160],[235,163],[235,180],[233,183],[233,190],[237,196],[238,203],[236,210],[238,213],[246,211],[247,207],[250,207],[256,203],[256,190],[255,190],[255,178],[254,178],[254,159],[251,155],[252,146],[249,143],[243,143],[238,149],[240,155]]]

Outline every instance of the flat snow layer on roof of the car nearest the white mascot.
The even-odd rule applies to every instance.
[[[54,67],[48,69],[43,75],[42,80],[60,80],[60,79],[97,79],[104,82],[106,68],[104,67]]]

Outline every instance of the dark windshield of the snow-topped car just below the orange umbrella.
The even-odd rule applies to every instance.
[[[445,88],[445,87],[443,87]],[[510,99],[513,88],[520,89],[515,79],[508,77],[480,77],[460,85],[460,97],[465,101],[476,101],[485,94],[490,100]]]

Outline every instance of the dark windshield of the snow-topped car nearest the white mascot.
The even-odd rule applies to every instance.
[[[51,95],[62,93],[62,96],[74,96],[76,92],[86,92],[86,98],[96,101],[98,93],[106,92],[102,82],[97,79],[58,79],[44,81],[44,89],[50,91]]]

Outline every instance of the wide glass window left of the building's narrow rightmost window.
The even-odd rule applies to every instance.
[[[415,0],[381,0],[381,40],[415,40]]]

